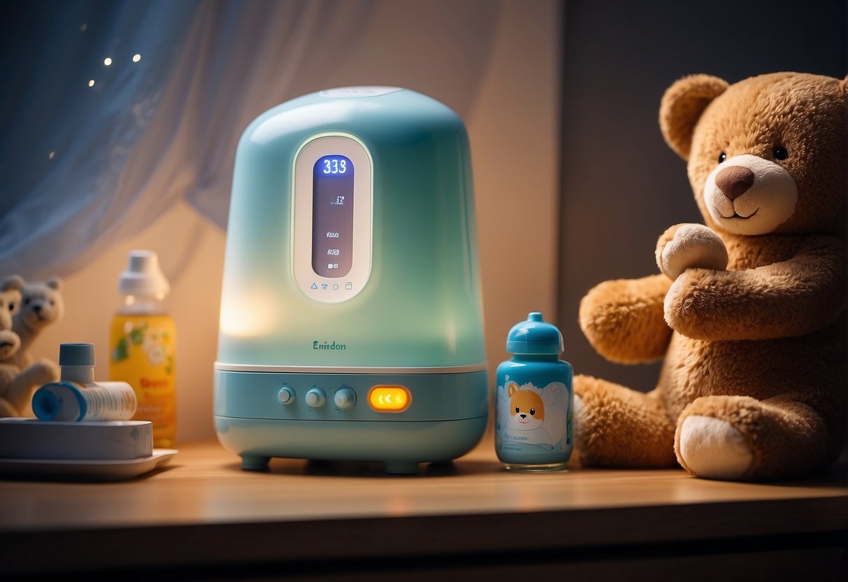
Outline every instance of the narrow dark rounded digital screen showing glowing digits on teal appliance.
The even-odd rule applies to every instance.
[[[353,265],[354,165],[325,155],[312,169],[312,270],[344,277]]]

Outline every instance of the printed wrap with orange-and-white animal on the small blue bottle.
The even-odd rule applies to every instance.
[[[495,448],[499,456],[531,456],[528,462],[567,460],[572,451],[571,389],[551,382],[539,388],[506,375],[495,400]],[[545,459],[550,456],[550,459]]]

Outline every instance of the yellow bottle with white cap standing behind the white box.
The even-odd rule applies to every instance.
[[[129,383],[133,420],[153,423],[153,446],[176,445],[176,326],[165,307],[170,284],[150,250],[131,250],[118,283],[124,305],[109,329],[109,380]]]

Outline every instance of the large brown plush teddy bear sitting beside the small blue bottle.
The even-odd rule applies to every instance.
[[[656,246],[661,274],[600,283],[579,322],[601,355],[663,359],[644,394],[575,378],[584,466],[766,480],[822,470],[845,428],[846,81],[687,76],[660,126],[703,225]]]

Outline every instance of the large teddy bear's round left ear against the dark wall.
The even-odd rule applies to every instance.
[[[662,95],[660,129],[666,143],[683,159],[689,159],[692,133],[706,106],[729,87],[728,81],[711,75],[690,75],[675,81]]]

